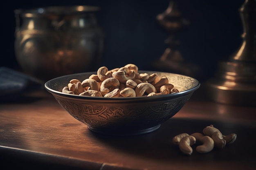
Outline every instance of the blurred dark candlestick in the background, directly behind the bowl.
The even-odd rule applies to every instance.
[[[169,2],[168,8],[163,13],[157,15],[156,19],[159,25],[168,31],[168,38],[165,40],[168,48],[159,59],[150,63],[151,69],[195,77],[199,68],[184,60],[177,48],[180,41],[176,38],[177,33],[189,26],[190,22],[182,17],[173,0]]]

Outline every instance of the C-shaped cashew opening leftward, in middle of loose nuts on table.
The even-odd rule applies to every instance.
[[[191,136],[195,137],[196,141],[202,143],[202,145],[196,147],[196,151],[199,153],[207,153],[213,150],[214,141],[209,136],[204,136],[202,133],[193,133]]]

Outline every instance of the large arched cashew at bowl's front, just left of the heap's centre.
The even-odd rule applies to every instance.
[[[115,88],[119,88],[119,85],[120,83],[115,77],[107,78],[101,83],[100,92],[104,96]]]

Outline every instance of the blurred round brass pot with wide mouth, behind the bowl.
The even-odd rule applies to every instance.
[[[95,71],[103,52],[98,7],[18,9],[15,54],[20,67],[42,80]]]

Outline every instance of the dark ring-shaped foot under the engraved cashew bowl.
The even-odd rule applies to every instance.
[[[157,130],[159,127],[161,126],[161,124],[157,125],[157,126],[153,126],[151,128],[146,128],[146,129],[141,129],[141,130],[104,130],[103,128],[92,128],[90,126],[88,126],[88,128],[96,133],[100,133],[103,135],[115,135],[115,136],[131,136],[131,135],[142,135],[142,134],[146,134],[146,133],[150,133],[150,132],[154,132],[155,130]]]

